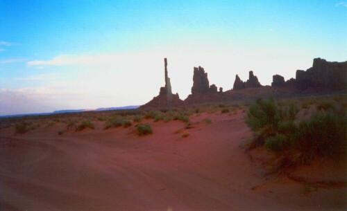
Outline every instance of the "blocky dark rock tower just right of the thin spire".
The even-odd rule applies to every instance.
[[[192,94],[208,93],[209,90],[208,73],[201,66],[194,67]]]

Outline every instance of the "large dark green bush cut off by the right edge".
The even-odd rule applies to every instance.
[[[317,156],[339,158],[346,154],[346,116],[319,112],[303,120],[296,132],[298,149],[305,160]]]

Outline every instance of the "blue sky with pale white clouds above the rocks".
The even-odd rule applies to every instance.
[[[230,90],[347,59],[347,1],[0,0],[0,116],[187,98],[194,66]]]

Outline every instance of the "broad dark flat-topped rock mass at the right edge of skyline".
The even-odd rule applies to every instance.
[[[296,83],[301,88],[330,87],[346,88],[347,62],[327,62],[325,59],[313,59],[313,65],[307,71],[296,71]]]

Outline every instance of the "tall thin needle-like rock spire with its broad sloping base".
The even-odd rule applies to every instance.
[[[154,97],[150,102],[142,105],[142,108],[171,107],[183,104],[183,100],[180,100],[178,93],[174,95],[171,92],[171,82],[167,73],[167,58],[164,58],[164,73],[165,86],[160,87],[159,95],[157,97]]]

